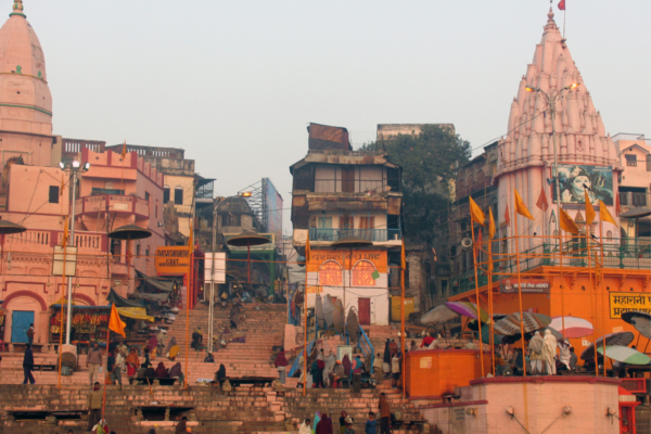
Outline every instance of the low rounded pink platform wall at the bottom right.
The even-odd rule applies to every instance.
[[[615,379],[496,378],[471,384],[461,387],[460,399],[452,404],[421,407],[427,422],[443,434],[620,432],[616,417],[607,416],[609,409],[618,414],[620,381]],[[507,412],[511,408],[514,418]]]

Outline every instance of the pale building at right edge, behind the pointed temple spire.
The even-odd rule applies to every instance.
[[[623,242],[638,240],[651,244],[651,217],[636,217],[651,212],[651,139],[643,135],[618,133],[613,136],[613,142],[622,168],[617,180],[620,237]],[[616,239],[617,233],[607,233],[607,237]]]

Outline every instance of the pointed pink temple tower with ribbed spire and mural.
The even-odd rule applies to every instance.
[[[572,90],[564,87],[579,82]],[[533,235],[539,227],[549,234],[551,212],[556,209],[552,202],[552,189],[547,179],[552,177],[553,136],[548,100],[541,92],[527,92],[526,86],[538,88],[548,94],[561,97],[556,102],[557,115],[554,122],[559,164],[600,165],[618,168],[618,157],[610,135],[601,119],[601,114],[595,108],[590,92],[577,69],[566,40],[553,21],[551,10],[544,27],[542,40],[536,46],[533,63],[527,65],[526,74],[522,76],[518,93],[511,103],[508,120],[508,135],[498,143],[497,182],[499,210],[495,216],[502,228],[501,237],[513,230],[513,190],[516,189],[525,205],[535,218],[519,219],[521,235]],[[536,207],[541,189],[546,189],[549,207],[544,213]],[[613,194],[617,191],[617,176],[613,176]],[[505,226],[507,206],[511,213],[511,228]],[[565,208],[565,206],[563,206]],[[565,209],[574,218],[577,210]],[[614,206],[608,207],[615,216]],[[554,210],[556,214],[556,210]],[[599,213],[598,217],[599,217]],[[558,216],[557,216],[558,218]],[[605,222],[604,233],[616,228]],[[521,240],[521,251],[532,248],[540,240]]]

